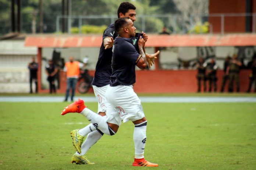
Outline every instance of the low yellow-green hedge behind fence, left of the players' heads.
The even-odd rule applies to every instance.
[[[95,25],[83,25],[81,27],[81,32],[82,34],[89,34],[89,33],[103,33],[104,30],[106,29],[106,25],[102,26],[95,26]],[[78,27],[72,27],[71,28],[71,33],[79,33],[79,28]]]

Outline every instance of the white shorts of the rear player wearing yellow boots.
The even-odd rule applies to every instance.
[[[98,100],[98,112],[105,112],[107,111],[107,107],[106,107],[106,91],[107,88],[109,88],[109,85],[106,86],[102,86],[102,87],[97,87],[97,86],[92,86],[94,94],[96,99]]]

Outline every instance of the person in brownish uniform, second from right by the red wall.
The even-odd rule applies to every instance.
[[[228,79],[229,79],[228,92],[233,92],[234,81],[236,84],[237,92],[239,92],[240,90],[239,71],[241,66],[242,66],[242,63],[238,61],[237,55],[233,55],[233,58],[230,60],[227,68]]]

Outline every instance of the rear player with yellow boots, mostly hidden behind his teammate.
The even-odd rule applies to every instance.
[[[136,20],[136,7],[129,3],[123,2],[120,4],[117,10],[118,18],[129,17],[132,22]],[[142,34],[143,40],[147,41],[147,35]],[[95,75],[92,81],[93,91],[98,100],[97,113],[101,116],[106,115],[106,101],[105,93],[110,84],[110,75],[112,73],[111,60],[112,60],[112,47],[114,39],[117,37],[114,24],[109,25],[103,33],[103,41],[100,47],[99,58],[96,64]],[[77,149],[77,152],[72,156],[71,162],[78,164],[90,164],[85,154],[95,144],[104,133],[90,124],[82,129],[73,130],[71,137],[73,145]],[[94,131],[95,130],[95,131]],[[89,133],[89,134],[88,134]],[[84,137],[88,134],[84,141]]]

